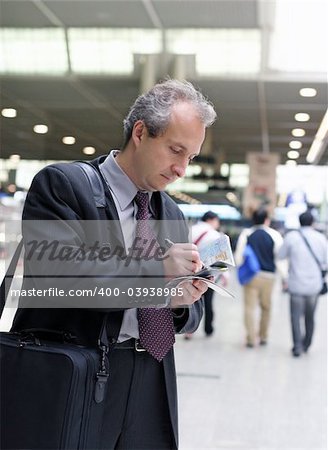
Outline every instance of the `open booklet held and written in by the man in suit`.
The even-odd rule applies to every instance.
[[[216,241],[205,246],[199,254],[203,262],[202,269],[190,275],[173,278],[167,283],[167,287],[177,287],[186,281],[201,280],[220,295],[234,298],[231,292],[209,279],[214,277],[215,280],[222,272],[228,270],[229,266],[235,266],[229,236],[222,234]]]

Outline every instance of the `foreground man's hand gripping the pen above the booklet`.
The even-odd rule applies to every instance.
[[[194,244],[174,244],[164,257],[164,272],[168,278],[190,275],[202,268],[199,252]]]

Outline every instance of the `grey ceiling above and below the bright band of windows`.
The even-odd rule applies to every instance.
[[[133,27],[133,28],[258,28],[262,32],[263,61],[268,60],[266,38],[272,27],[275,2],[256,0],[144,0],[144,1],[32,1],[2,0],[1,25],[8,28]],[[315,49],[313,49],[315,51]],[[157,78],[170,74],[170,57]],[[215,58],[215,55],[213,55]],[[27,159],[81,159],[81,149],[93,145],[97,155],[119,147],[122,120],[139,94],[140,60],[131,76],[0,75],[1,107],[16,107],[15,119],[1,118],[2,155],[19,153]],[[165,71],[167,70],[167,71]],[[199,77],[193,81],[214,103],[218,121],[213,126],[211,153],[221,162],[245,162],[248,151],[278,152],[287,159],[292,128],[304,128],[299,163],[306,155],[327,108],[326,78],[312,73],[262,71],[257,76]],[[303,87],[317,95],[304,98]],[[307,123],[294,115],[308,112]],[[33,125],[47,123],[49,133],[36,135]],[[73,135],[74,145],[61,138]],[[320,163],[327,162],[327,149]]]

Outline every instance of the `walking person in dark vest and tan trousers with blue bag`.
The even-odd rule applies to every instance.
[[[244,229],[237,241],[235,261],[240,266],[244,261],[244,251],[248,244],[259,262],[259,272],[244,285],[244,321],[246,327],[246,346],[256,344],[254,314],[256,305],[261,309],[259,326],[260,345],[266,345],[270,322],[271,296],[275,281],[277,253],[283,239],[278,231],[270,228],[270,218],[264,208],[253,213],[253,226]]]

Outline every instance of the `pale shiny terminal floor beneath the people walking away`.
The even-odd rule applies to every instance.
[[[233,277],[232,277],[233,278]],[[312,347],[291,356],[288,295],[275,287],[267,346],[245,347],[242,291],[215,294],[215,333],[177,337],[180,450],[327,448],[327,302]]]

